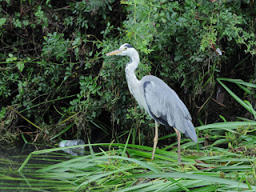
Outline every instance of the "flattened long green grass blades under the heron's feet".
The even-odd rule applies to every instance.
[[[200,126],[198,130],[210,131],[211,137],[216,137],[218,130],[214,127],[219,125],[223,126]],[[227,123],[224,128],[226,133],[238,133],[239,127],[234,129]],[[19,169],[17,165],[11,170],[1,168],[0,190],[256,191],[256,162],[253,155],[247,155],[249,150],[255,152],[256,137],[253,134],[247,136],[250,142],[242,145],[248,140],[243,137],[242,142],[230,149],[222,147],[222,142],[221,145],[206,147],[205,138],[199,138],[198,145],[189,139],[182,140],[182,164],[177,162],[176,147],[173,150],[156,150],[155,159],[151,161],[152,147],[127,142],[87,144],[88,154],[79,157],[58,154],[60,148],[38,150],[32,152]],[[101,152],[95,153],[95,148]],[[56,157],[57,162],[54,160]],[[34,160],[44,163],[34,164]],[[4,165],[14,164],[4,159],[1,162]],[[12,182],[18,182],[18,187],[10,184]]]

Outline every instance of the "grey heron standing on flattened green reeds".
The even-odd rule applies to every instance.
[[[130,62],[126,64],[126,81],[130,93],[137,100],[139,106],[144,107],[155,121],[154,146],[151,159],[154,159],[154,152],[158,144],[158,123],[160,123],[166,126],[167,129],[174,127],[178,136],[178,162],[181,162],[180,132],[186,134],[186,137],[193,142],[198,142],[198,136],[191,122],[190,112],[178,97],[178,94],[160,78],[146,75],[141,80],[138,80],[135,70],[138,67],[139,56],[133,46],[125,43],[118,50],[111,51],[106,55],[114,54],[130,57]]]

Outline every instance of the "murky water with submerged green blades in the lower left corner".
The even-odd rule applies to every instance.
[[[59,181],[38,172],[47,166],[74,158],[61,150],[33,154],[22,172],[18,172],[28,155],[40,148],[33,145],[9,150],[7,147],[0,148],[0,191],[69,191],[74,187],[70,182]]]

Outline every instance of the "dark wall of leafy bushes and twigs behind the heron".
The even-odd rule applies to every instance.
[[[140,54],[138,77],[162,78],[185,102],[195,126],[254,118],[216,81],[255,83],[254,0],[2,0],[0,5],[2,144],[23,142],[22,137],[123,142],[130,129],[133,142],[152,142],[154,122],[126,86],[128,58],[105,56],[125,42]],[[255,109],[255,94],[225,84]],[[160,137],[169,134],[160,130]]]

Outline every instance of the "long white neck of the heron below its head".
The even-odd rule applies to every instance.
[[[130,62],[126,64],[126,81],[130,90],[130,93],[134,95],[134,91],[138,86],[138,78],[135,75],[135,70],[138,67],[139,56],[138,52],[134,50],[132,57],[130,57]]]

